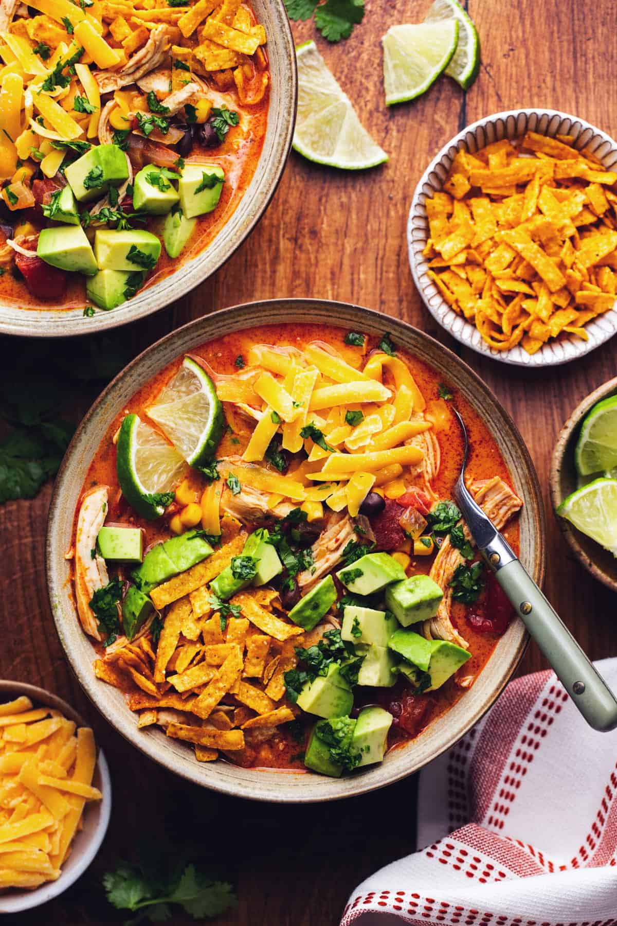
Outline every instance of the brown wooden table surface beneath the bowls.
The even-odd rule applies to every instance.
[[[364,124],[388,151],[388,165],[344,173],[292,153],[265,217],[214,278],[174,306],[111,337],[76,338],[70,344],[5,338],[3,367],[22,369],[30,363],[41,370],[46,357],[83,363],[85,357],[100,358],[105,352],[129,359],[190,319],[270,296],[340,299],[405,319],[461,354],[511,412],[545,496],[547,594],[591,657],[614,655],[614,596],[587,575],[561,540],[550,510],[548,475],[563,421],[586,394],[615,375],[615,342],[565,367],[541,371],[507,367],[462,350],[438,328],[415,292],[405,244],[416,182],[438,149],[467,123],[516,106],[549,106],[617,135],[617,115],[606,85],[614,5],[612,0],[469,0],[483,59],[473,88],[463,94],[441,78],[417,102],[387,110],[379,39],[390,25],[422,19],[428,5],[428,0],[366,0],[364,22],[348,41],[318,41]],[[297,42],[316,34],[311,23],[294,24],[293,31]],[[84,382],[75,391],[69,408],[75,421],[104,384]],[[358,882],[413,850],[413,779],[343,803],[277,807],[200,790],[142,757],[87,701],[56,638],[43,571],[50,494],[47,485],[33,501],[0,507],[0,677],[43,685],[90,718],[111,766],[115,806],[91,870],[44,912],[20,914],[14,921],[19,926],[38,926],[43,920],[67,926],[123,921],[106,903],[101,877],[144,838],[164,840],[170,857],[179,841],[200,845],[204,864],[237,883],[238,909],[217,922],[338,923]],[[543,666],[530,646],[521,671]]]

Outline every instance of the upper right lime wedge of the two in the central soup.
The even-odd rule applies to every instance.
[[[214,382],[191,357],[184,357],[146,411],[191,466],[204,466],[215,456],[225,428],[223,407]]]

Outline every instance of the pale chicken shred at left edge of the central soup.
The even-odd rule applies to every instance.
[[[105,522],[107,511],[107,496],[109,489],[106,485],[98,485],[87,492],[81,501],[80,514],[77,519],[77,533],[75,539],[75,594],[77,609],[80,615],[81,626],[86,633],[95,640],[103,637],[97,630],[97,620],[94,617],[90,601],[94,592],[109,582],[105,559],[96,550],[96,538]]]

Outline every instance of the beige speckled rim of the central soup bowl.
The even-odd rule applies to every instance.
[[[444,717],[438,718],[412,744],[393,750],[382,765],[338,780],[286,770],[244,770],[227,763],[198,763],[178,740],[169,740],[157,730],[138,730],[135,715],[127,707],[124,696],[94,676],[93,645],[81,631],[68,593],[69,569],[64,554],[71,541],[72,519],[81,485],[100,437],[142,383],[151,380],[158,369],[175,357],[222,334],[250,329],[257,324],[307,321],[376,334],[388,331],[395,343],[425,359],[446,382],[456,385],[487,421],[512,473],[514,486],[524,496],[521,558],[535,581],[541,583],[546,569],[546,525],[539,482],[523,438],[495,395],[459,357],[426,333],[371,309],[329,300],[265,300],[221,309],[191,321],[136,357],[100,395],[68,447],[56,479],[46,540],[47,584],[56,630],[69,665],[106,720],[146,756],[191,782],[223,794],[291,804],[335,800],[373,791],[399,781],[449,749],[483,716],[512,676],[527,642],[522,622],[512,622],[473,687],[448,711],[447,722]],[[484,403],[485,412],[480,402]]]

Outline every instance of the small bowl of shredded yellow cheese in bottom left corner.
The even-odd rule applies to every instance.
[[[0,682],[0,915],[39,907],[98,852],[111,779],[93,731],[56,694]]]

